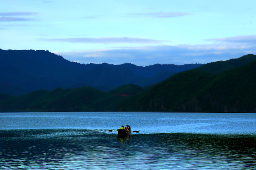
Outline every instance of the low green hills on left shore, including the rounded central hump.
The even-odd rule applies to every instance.
[[[27,111],[113,111],[126,96],[144,91],[129,84],[103,92],[91,87],[38,90],[23,96],[0,94],[0,112]]]

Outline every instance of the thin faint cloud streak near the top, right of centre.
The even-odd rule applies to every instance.
[[[182,12],[156,12],[156,13],[129,13],[129,15],[169,18],[169,17],[179,17],[179,16],[193,15],[193,14],[182,13]]]

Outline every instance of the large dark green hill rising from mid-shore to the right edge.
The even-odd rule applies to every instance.
[[[123,100],[116,110],[256,112],[255,87],[256,55],[249,54],[179,72],[150,90]]]

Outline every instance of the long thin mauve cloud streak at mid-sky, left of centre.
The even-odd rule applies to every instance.
[[[41,39],[45,41],[63,41],[68,43],[98,43],[98,44],[112,44],[112,43],[134,43],[134,44],[152,44],[161,43],[164,41],[143,39],[143,38],[132,38],[132,37],[76,37],[76,38],[57,38],[57,39]]]

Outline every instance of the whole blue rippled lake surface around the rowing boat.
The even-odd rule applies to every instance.
[[[3,170],[256,169],[256,114],[0,113],[0,136]]]

